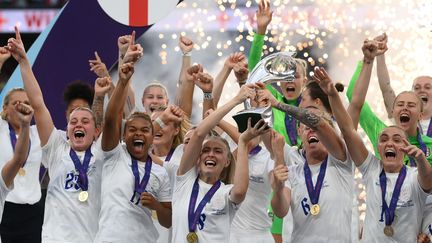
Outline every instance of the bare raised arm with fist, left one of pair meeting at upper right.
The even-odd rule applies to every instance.
[[[366,93],[369,87],[369,82],[372,74],[373,61],[377,55],[378,43],[376,41],[365,40],[363,43],[363,68],[359,78],[354,86],[351,102],[348,106],[348,114],[350,115],[354,127],[357,129],[360,112],[365,103]]]

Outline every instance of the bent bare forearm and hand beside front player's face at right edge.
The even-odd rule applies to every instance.
[[[432,191],[432,168],[423,151],[415,145],[411,145],[406,139],[403,140],[405,147],[401,150],[409,157],[417,161],[418,181],[421,188],[430,193]]]

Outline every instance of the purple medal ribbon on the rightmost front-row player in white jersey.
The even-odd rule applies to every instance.
[[[390,200],[390,206],[387,205],[385,200],[385,194],[387,189],[387,178],[384,172],[384,169],[380,174],[380,186],[381,186],[381,196],[382,196],[382,210],[385,215],[385,225],[390,226],[393,223],[395,217],[395,211],[397,206],[397,201],[399,199],[400,191],[402,189],[402,184],[406,177],[406,167],[405,165],[402,167],[399,172],[398,178],[396,179],[396,184],[393,190],[393,194]]]

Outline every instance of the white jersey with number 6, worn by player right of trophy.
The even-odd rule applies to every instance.
[[[309,165],[313,185],[321,163]],[[291,210],[294,219],[292,242],[350,242],[353,189],[353,163],[339,161],[328,155],[318,204],[320,213],[310,212],[311,200],[307,191],[304,164],[289,167],[286,186],[291,190]]]

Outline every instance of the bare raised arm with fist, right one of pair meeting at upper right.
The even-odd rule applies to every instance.
[[[378,42],[377,52],[377,76],[380,85],[381,93],[383,95],[384,104],[387,110],[388,118],[392,118],[393,102],[396,99],[396,94],[390,83],[390,76],[385,62],[385,52],[387,51],[387,35],[383,33],[374,38]]]

